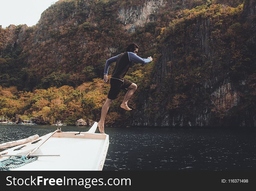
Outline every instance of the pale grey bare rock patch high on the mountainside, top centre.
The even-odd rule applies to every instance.
[[[144,26],[146,22],[154,21],[151,14],[158,8],[165,6],[163,0],[149,0],[142,6],[121,7],[118,11],[118,19],[129,32],[134,32],[136,27]]]

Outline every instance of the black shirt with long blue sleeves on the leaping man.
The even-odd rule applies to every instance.
[[[141,58],[133,52],[124,52],[117,56],[109,58],[106,61],[104,74],[108,74],[109,66],[111,65],[111,63],[116,62],[115,69],[112,73],[111,78],[117,78],[123,81],[125,78],[125,74],[127,73],[132,63],[146,64],[146,63],[149,63],[150,61],[151,61],[150,59]]]

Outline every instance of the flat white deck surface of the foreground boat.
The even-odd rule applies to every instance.
[[[52,137],[34,154],[60,156],[39,157],[35,162],[12,170],[95,170],[104,149],[104,141]]]

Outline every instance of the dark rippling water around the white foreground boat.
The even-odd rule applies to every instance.
[[[89,128],[62,126],[61,130],[88,131]],[[56,129],[55,126],[0,125],[0,143],[35,134],[42,136]],[[103,170],[256,170],[253,130],[107,127],[105,133],[109,135],[109,149]]]

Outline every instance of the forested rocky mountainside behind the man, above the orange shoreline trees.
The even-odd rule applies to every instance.
[[[134,65],[127,73],[138,84],[130,100],[134,110],[124,112],[117,99],[110,108],[114,125],[256,126],[255,4],[58,1],[34,27],[0,27],[0,85],[31,91],[96,82],[106,59],[132,41],[140,45],[139,56],[154,55],[154,62]],[[30,107],[38,100],[32,99]],[[85,94],[76,101],[77,106],[100,105]],[[31,110],[28,105],[22,112]],[[96,121],[100,109],[84,113]]]

